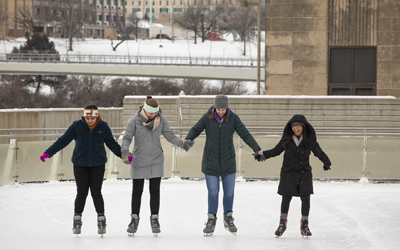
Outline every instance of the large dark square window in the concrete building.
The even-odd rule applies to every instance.
[[[376,48],[329,48],[330,95],[376,95]]]

